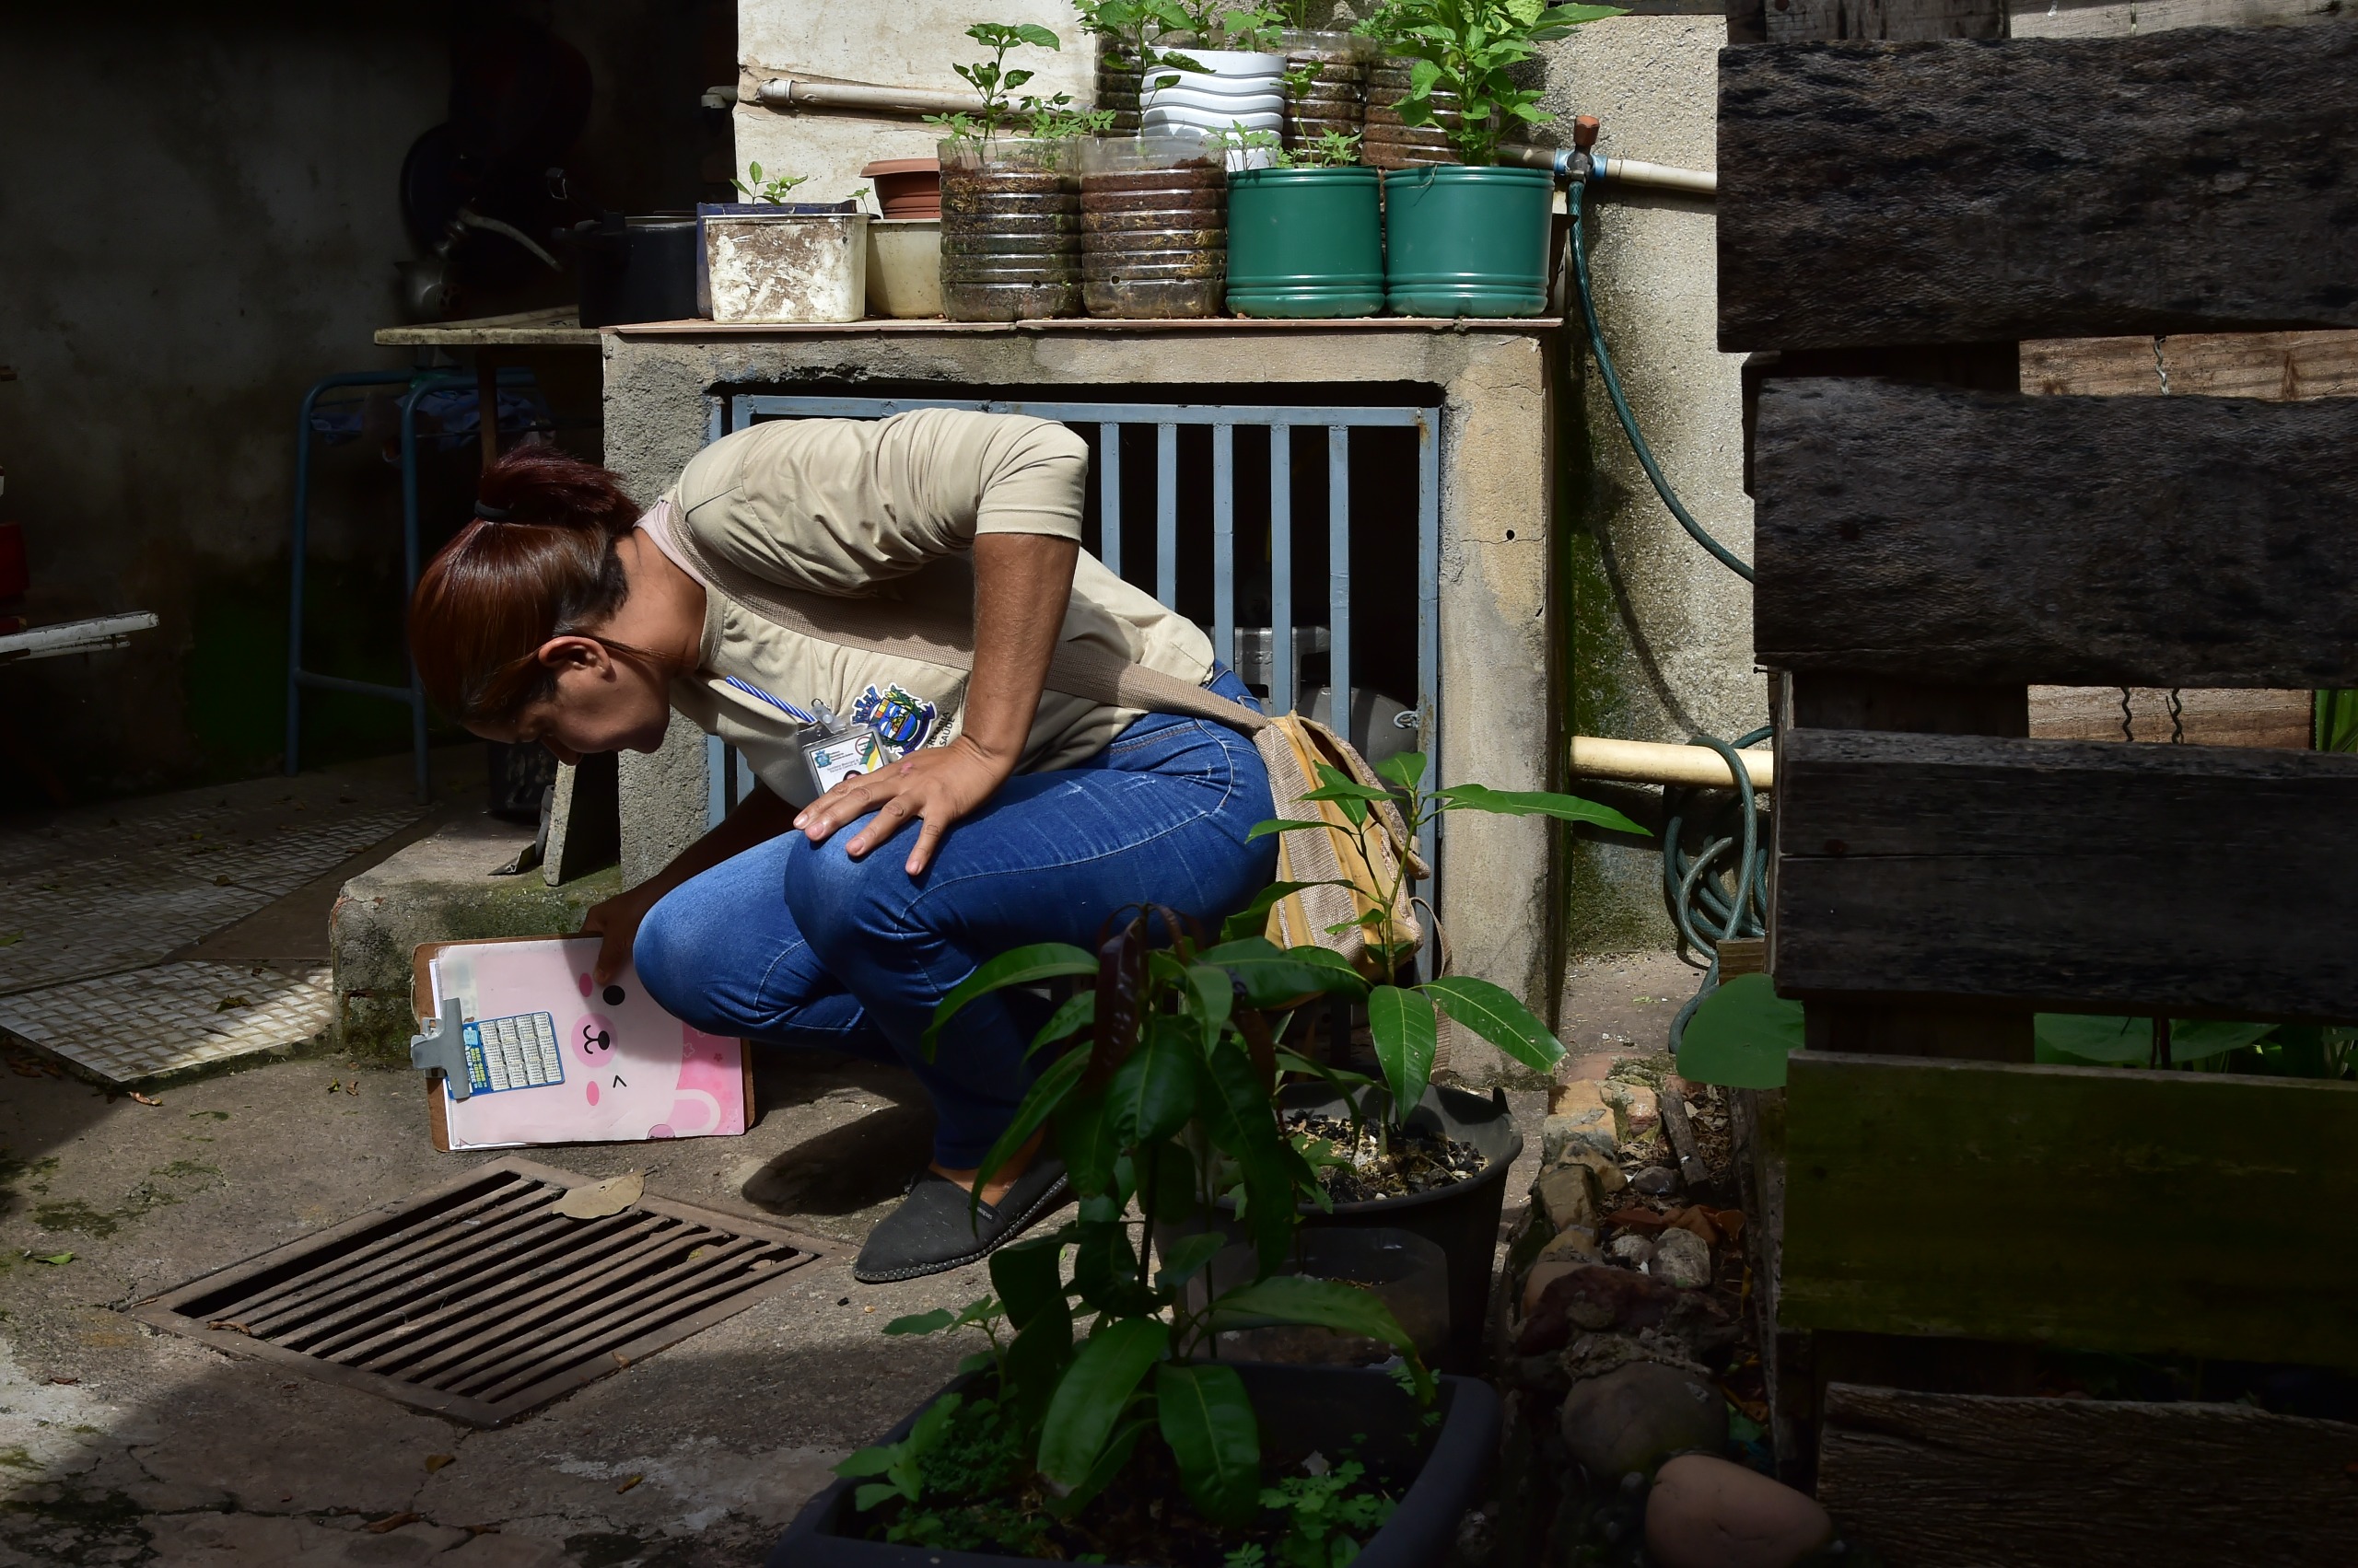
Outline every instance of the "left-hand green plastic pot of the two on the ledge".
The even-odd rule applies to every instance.
[[[1377,172],[1231,170],[1229,309],[1238,316],[1375,316],[1384,309]]]

